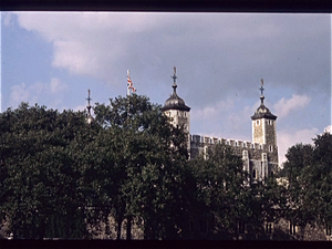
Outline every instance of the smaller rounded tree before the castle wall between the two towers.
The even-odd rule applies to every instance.
[[[216,145],[207,159],[198,157],[191,167],[203,212],[215,217],[217,229],[236,232],[237,220],[245,220],[248,214],[248,176],[242,159],[229,146]]]

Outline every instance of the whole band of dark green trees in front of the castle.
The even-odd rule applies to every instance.
[[[188,238],[188,220],[206,218],[210,234],[260,232],[280,217],[332,224],[332,137],[289,148],[281,176],[250,184],[231,147],[188,160],[183,129],[147,97],[96,104],[95,120],[22,103],[0,114],[0,218],[14,238],[90,238],[87,225],[113,216],[121,238],[133,220],[145,239]]]

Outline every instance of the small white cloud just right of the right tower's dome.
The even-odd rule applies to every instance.
[[[282,97],[278,103],[274,104],[276,113],[278,113],[279,118],[286,117],[292,111],[303,108],[310,103],[310,97],[307,95],[292,95],[292,98],[286,100]]]

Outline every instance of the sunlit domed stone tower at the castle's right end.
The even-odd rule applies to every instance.
[[[261,79],[260,106],[251,116],[252,120],[252,143],[263,144],[269,152],[277,148],[277,116],[264,105],[263,80]]]

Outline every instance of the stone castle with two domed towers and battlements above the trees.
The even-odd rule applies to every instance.
[[[173,118],[173,125],[181,126],[187,134],[190,134],[190,107],[176,93],[175,68],[172,77],[174,80],[173,94],[166,100],[162,111]],[[261,91],[261,103],[251,116],[252,141],[190,134],[188,151],[191,159],[199,155],[207,158],[209,149],[214,149],[218,144],[224,144],[230,146],[234,153],[243,159],[243,169],[251,175],[252,180],[263,180],[273,175],[278,167],[277,116],[264,105],[262,80],[259,90]]]

